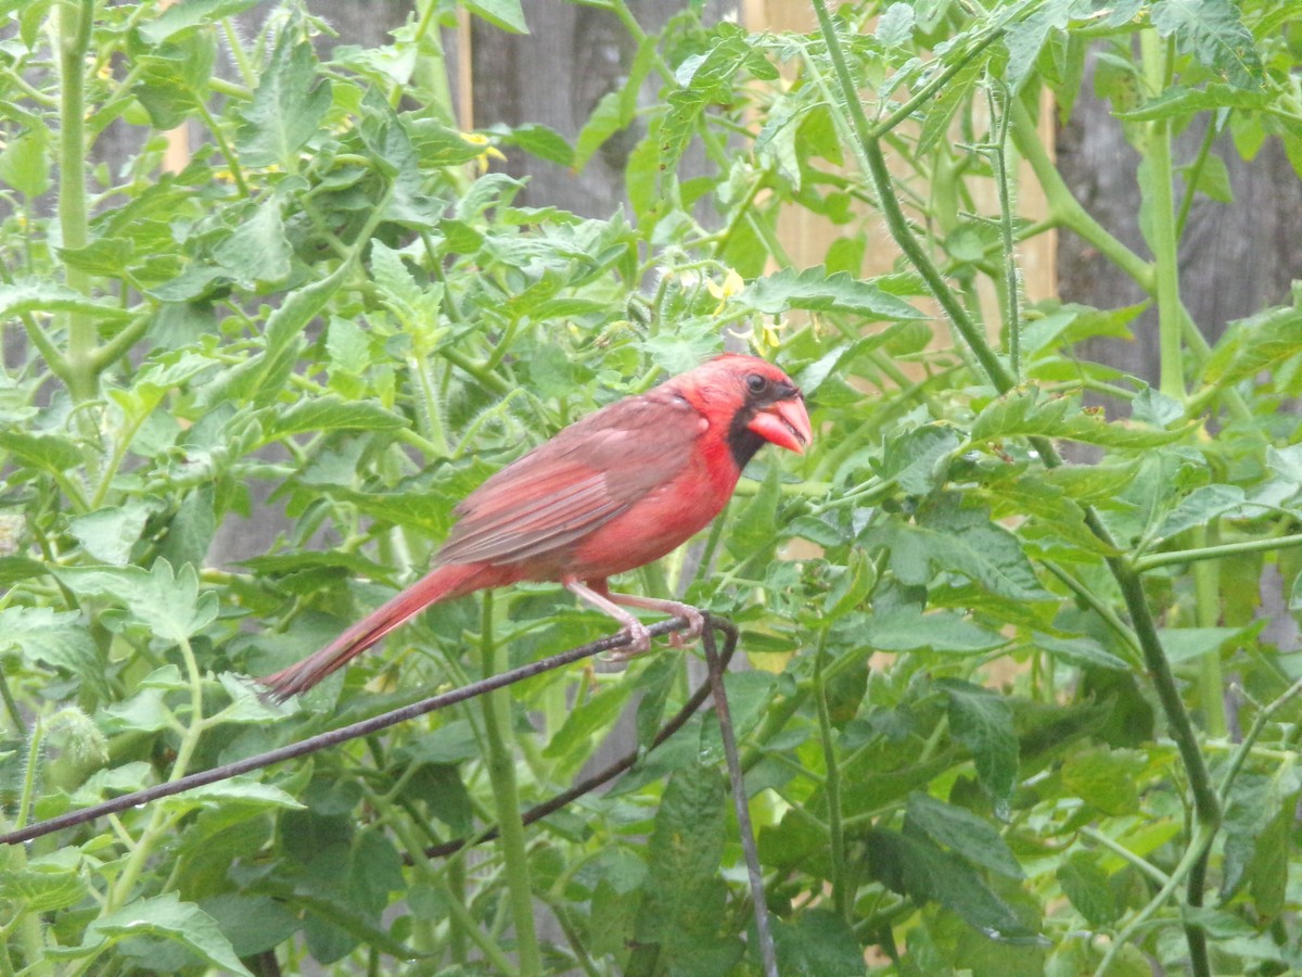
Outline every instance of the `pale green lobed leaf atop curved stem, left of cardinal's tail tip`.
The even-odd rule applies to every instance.
[[[122,604],[148,630],[172,642],[187,640],[217,616],[217,595],[199,593],[199,576],[193,564],[184,565],[176,574],[172,564],[160,559],[150,571],[62,567],[55,576],[78,595],[107,597]]]

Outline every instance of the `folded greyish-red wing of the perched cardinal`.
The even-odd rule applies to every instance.
[[[590,414],[466,496],[439,561],[561,554],[672,481],[703,426],[686,400],[659,389]]]

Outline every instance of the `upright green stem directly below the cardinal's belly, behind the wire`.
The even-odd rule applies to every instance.
[[[480,642],[484,677],[505,671],[504,650],[497,646],[492,634],[491,593],[486,593],[483,598]],[[543,972],[543,957],[538,948],[538,931],[534,927],[534,895],[529,878],[529,852],[525,848],[525,823],[519,817],[516,758],[509,745],[512,728],[509,689],[496,689],[483,697],[483,718],[488,740],[488,779],[492,783],[493,808],[506,869],[506,888],[510,895],[512,920],[516,924],[519,973],[523,977],[534,977]]]

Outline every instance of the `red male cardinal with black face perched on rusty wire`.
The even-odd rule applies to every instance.
[[[647,628],[622,610],[684,616],[676,601],[613,594],[605,580],[664,556],[723,511],[764,442],[810,443],[799,388],[772,363],[724,354],[570,425],[475,488],[434,569],[320,651],[267,676],[284,701],[310,689],[428,604],[521,580],[556,580],[624,625],[624,655],[646,651]]]

